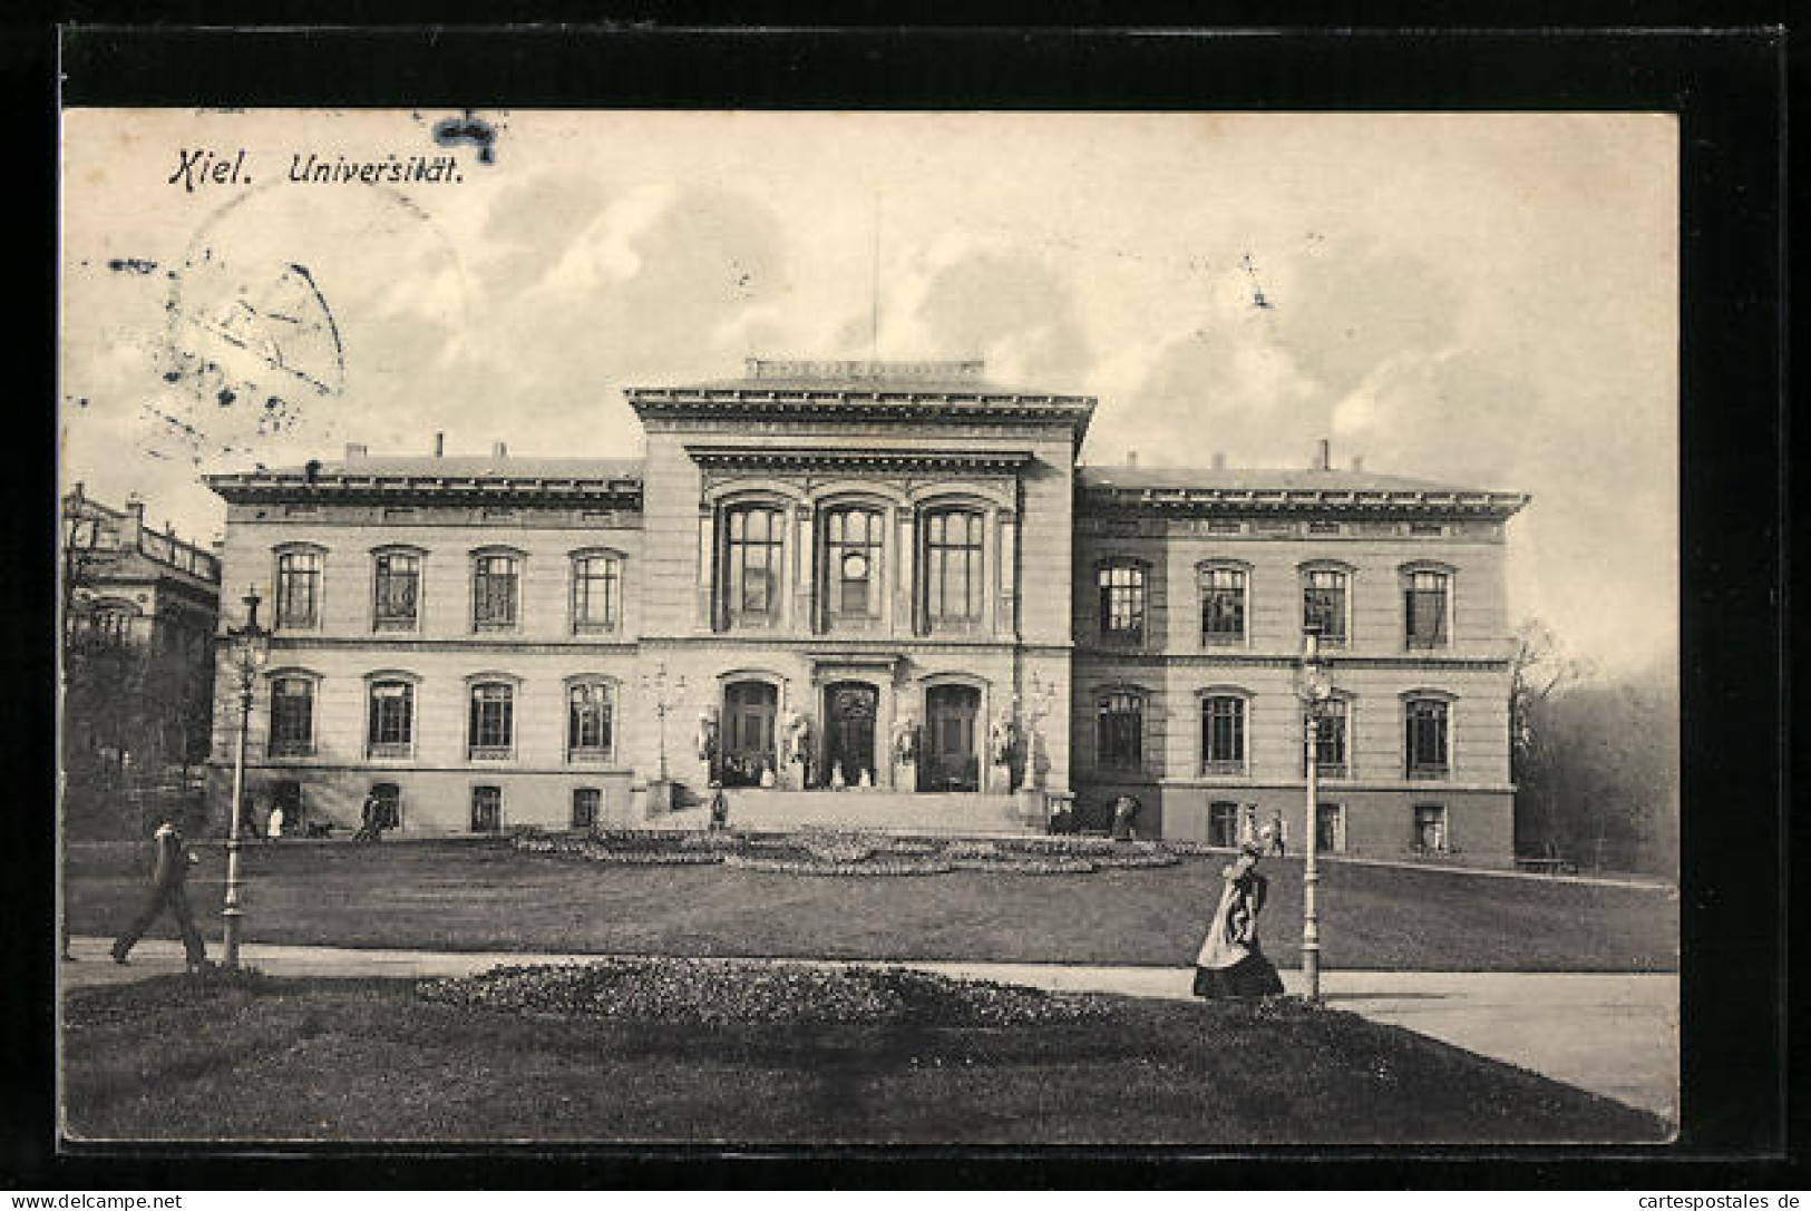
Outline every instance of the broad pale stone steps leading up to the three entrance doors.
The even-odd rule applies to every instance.
[[[848,829],[915,836],[1027,836],[1041,820],[1021,820],[1012,795],[907,795],[900,791],[764,791],[730,796],[730,827],[752,833]]]

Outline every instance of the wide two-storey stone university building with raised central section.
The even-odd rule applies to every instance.
[[[641,460],[382,458],[208,480],[272,653],[259,815],[400,834],[681,824],[1318,844],[1509,862],[1503,543],[1527,503],[1333,469],[1079,465],[1096,400],[978,362],[750,360],[628,393]],[[221,670],[214,773],[237,737]]]

